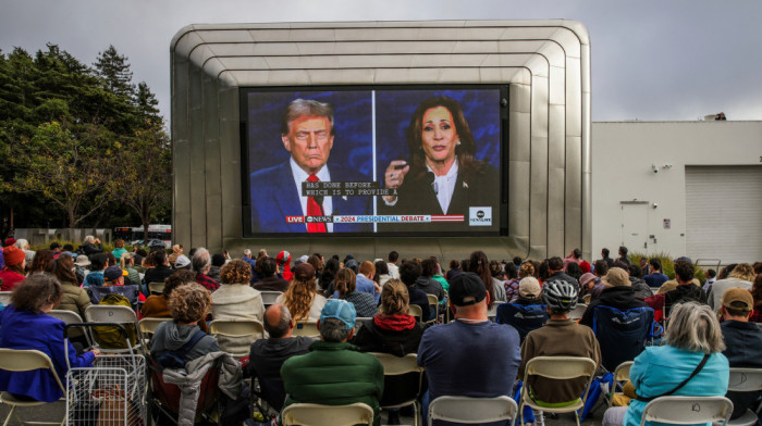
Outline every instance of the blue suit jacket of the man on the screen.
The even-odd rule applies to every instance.
[[[328,166],[331,181],[370,180],[357,172],[336,165]],[[251,231],[306,234],[305,224],[288,224],[285,216],[302,216],[299,195],[294,186],[291,163],[265,168],[251,174]],[[370,214],[371,197],[332,197],[333,215]],[[333,224],[334,233],[369,233],[371,224]]]

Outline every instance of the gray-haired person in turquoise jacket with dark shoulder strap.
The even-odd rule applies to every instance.
[[[724,397],[730,368],[717,316],[695,301],[673,306],[664,344],[646,347],[629,378],[637,398],[606,410],[603,426],[640,425],[646,405],[663,396]]]

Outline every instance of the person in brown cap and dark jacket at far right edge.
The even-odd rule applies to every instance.
[[[725,321],[720,324],[725,340],[725,351],[730,367],[762,368],[762,329],[749,322],[754,308],[754,299],[747,289],[728,288],[722,298],[722,314]],[[727,392],[733,401],[730,419],[740,417],[752,406],[760,392]]]

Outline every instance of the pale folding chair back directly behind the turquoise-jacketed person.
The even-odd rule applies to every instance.
[[[733,402],[725,397],[659,397],[643,410],[640,426],[646,422],[672,425],[696,425],[709,422],[727,424]]]

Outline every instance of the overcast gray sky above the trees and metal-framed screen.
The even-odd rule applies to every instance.
[[[0,49],[113,45],[170,116],[170,41],[202,23],[566,18],[585,24],[593,121],[762,120],[761,0],[0,0]]]

